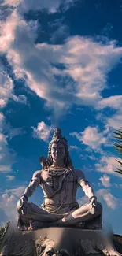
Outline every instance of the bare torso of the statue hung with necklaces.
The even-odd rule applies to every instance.
[[[63,173],[65,169],[59,170],[59,175]],[[77,205],[76,202],[76,191],[78,184],[76,182],[75,171],[70,171],[68,174],[61,176],[52,176],[52,170],[42,170],[41,172],[41,187],[43,188],[44,193],[44,205],[45,207],[50,207],[49,209],[58,208],[61,206],[61,209],[65,207],[70,209]],[[61,180],[64,177],[64,182]],[[78,206],[78,205],[77,205]],[[77,207],[78,208],[78,207]]]

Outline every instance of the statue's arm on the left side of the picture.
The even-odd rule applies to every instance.
[[[32,179],[31,179],[28,187],[25,188],[24,197],[27,200],[33,194],[36,187],[39,187],[40,183],[41,183],[41,171],[37,171],[33,174]]]

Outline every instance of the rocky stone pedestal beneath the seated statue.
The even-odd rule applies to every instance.
[[[43,228],[19,232],[9,225],[0,256],[122,255],[102,231],[76,228]]]

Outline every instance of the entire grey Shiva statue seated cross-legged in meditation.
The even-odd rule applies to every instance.
[[[36,171],[24,195],[17,202],[20,231],[47,227],[75,227],[102,229],[102,205],[97,202],[91,185],[80,169],[74,169],[69,156],[68,143],[55,128],[49,144],[47,159],[40,158],[42,170]],[[35,188],[42,187],[44,201],[39,207],[28,202]],[[76,191],[82,187],[89,202],[79,206]]]

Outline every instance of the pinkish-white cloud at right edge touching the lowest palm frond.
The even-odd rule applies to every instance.
[[[121,161],[121,158],[116,158],[114,156],[102,156],[100,162],[95,164],[95,168],[100,173],[108,173],[119,176],[118,173],[115,173],[118,167],[116,160]]]

